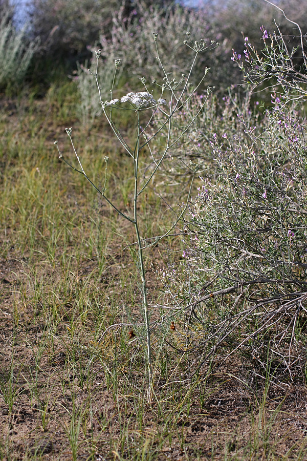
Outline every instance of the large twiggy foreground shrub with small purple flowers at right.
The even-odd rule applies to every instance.
[[[199,369],[236,352],[262,376],[269,358],[272,376],[287,381],[304,375],[306,355],[306,60],[301,49],[298,72],[284,38],[262,34],[262,53],[245,40],[246,53],[233,59],[254,83],[275,81],[271,107],[252,123],[233,106],[235,131],[224,112],[225,132],[210,140],[214,174],[203,173],[186,218],[182,260],[158,273],[164,305],[183,323],[181,347]]]

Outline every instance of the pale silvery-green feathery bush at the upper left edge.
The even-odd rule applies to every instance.
[[[38,41],[30,43],[26,29],[17,31],[5,15],[0,22],[0,88],[19,85],[25,78]]]

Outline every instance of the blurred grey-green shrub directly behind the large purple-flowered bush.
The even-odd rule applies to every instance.
[[[210,88],[209,91],[211,91]],[[248,142],[249,134],[246,127],[256,126],[258,134],[263,129],[262,109],[257,98],[251,100],[250,93],[240,92],[237,88],[229,88],[223,97],[216,95],[213,91],[208,104],[201,109],[204,97],[206,97],[206,92],[194,93],[187,107],[173,117],[173,131],[178,135],[182,125],[192,120],[193,123],[178,143],[173,146],[169,155],[171,158],[184,158],[185,161],[201,158],[206,171],[210,170],[214,173],[216,166],[210,141],[212,139],[223,141],[223,136],[228,131],[236,133],[241,140]],[[237,116],[238,113],[243,114],[245,124],[242,123],[242,118]],[[159,114],[154,123],[158,122]],[[171,164],[166,172],[167,177],[170,173],[176,174],[176,169]]]

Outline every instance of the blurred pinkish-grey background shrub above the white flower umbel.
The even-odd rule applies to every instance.
[[[202,37],[207,43],[217,35],[207,16],[207,10],[201,8],[188,9],[180,4],[168,9],[147,8],[140,2],[137,17],[136,13],[137,11],[133,11],[125,18],[119,10],[113,17],[111,37],[108,38],[104,34],[100,36],[103,55],[107,56],[112,51],[117,58],[122,59],[122,66],[130,78],[163,78],[155,47],[152,45],[153,30],[163,37],[161,59],[169,59],[170,54],[176,56],[176,62],[172,63],[170,69],[176,78],[180,78],[178,73],[187,71],[191,64],[182,47],[182,42],[187,38],[185,34],[192,32],[193,36]],[[225,87],[226,82],[228,85],[229,75],[233,76],[234,69],[233,63],[227,59],[227,53],[230,53],[231,49],[232,47],[224,43],[223,47],[217,47],[214,53],[211,53],[210,60],[203,56],[193,77],[193,83],[199,81],[206,67],[211,67],[210,80],[206,83],[214,85],[218,82],[218,88]]]

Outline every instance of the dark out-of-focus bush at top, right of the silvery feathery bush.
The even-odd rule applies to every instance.
[[[156,2],[162,10],[169,3],[170,0]],[[84,62],[90,57],[87,47],[97,43],[101,32],[109,37],[116,11],[124,19],[131,11],[138,11],[138,4],[131,0],[32,0],[32,35],[41,38],[45,58],[68,61],[72,66],[77,60]]]

